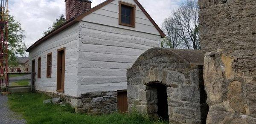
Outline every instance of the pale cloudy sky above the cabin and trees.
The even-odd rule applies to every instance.
[[[92,7],[105,0],[91,0]],[[138,0],[158,25],[177,8],[181,0]],[[61,14],[65,15],[64,0],[9,0],[10,14],[25,30],[24,42],[29,47]]]

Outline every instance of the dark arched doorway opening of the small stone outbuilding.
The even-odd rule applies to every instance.
[[[169,121],[167,87],[160,83],[151,84],[150,87],[157,89],[157,114],[165,121]]]

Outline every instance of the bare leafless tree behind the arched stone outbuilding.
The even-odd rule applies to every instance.
[[[176,45],[178,46],[176,48],[201,49],[198,33],[198,14],[199,6],[197,0],[185,0],[181,3],[180,7],[175,9],[172,15],[163,22],[162,29],[169,40],[166,43],[173,42],[172,44],[175,44],[177,42]],[[166,44],[166,46],[168,45]]]

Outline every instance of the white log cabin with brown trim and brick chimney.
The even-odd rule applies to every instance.
[[[72,2],[91,3],[66,0],[67,10]],[[66,16],[70,19],[63,26],[26,50],[38,91],[78,97],[125,90],[126,69],[146,50],[160,47],[165,36],[137,0],[107,0]]]

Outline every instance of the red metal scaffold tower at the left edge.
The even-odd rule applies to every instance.
[[[0,88],[8,91],[8,0],[0,1]]]

